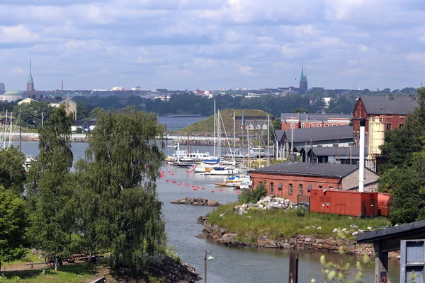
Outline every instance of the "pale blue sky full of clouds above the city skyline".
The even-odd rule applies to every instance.
[[[0,0],[0,81],[35,88],[404,88],[424,0]],[[297,79],[295,81],[295,78]]]

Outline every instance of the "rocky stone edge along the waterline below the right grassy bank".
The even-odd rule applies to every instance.
[[[320,250],[331,253],[337,253],[339,248],[342,247],[346,253],[352,255],[363,255],[366,253],[370,256],[373,256],[375,254],[373,245],[371,244],[358,244],[353,240],[337,240],[336,238],[332,237],[316,238],[311,235],[297,235],[295,237],[279,238],[276,240],[271,240],[268,238],[268,235],[263,235],[257,237],[255,243],[251,243],[249,241],[238,241],[236,233],[228,233],[226,228],[219,227],[215,224],[208,224],[207,220],[208,217],[199,216],[198,224],[203,224],[204,227],[202,233],[196,237],[212,238],[212,240],[214,240],[216,243],[227,246],[240,246],[249,248],[282,248],[288,250]],[[346,230],[346,233],[348,233],[348,231],[349,230]],[[351,233],[351,231],[349,233]],[[358,231],[353,233],[358,233]],[[399,259],[399,252],[389,253],[388,258]]]

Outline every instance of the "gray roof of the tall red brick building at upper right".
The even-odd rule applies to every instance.
[[[361,96],[359,100],[365,105],[368,115],[407,115],[419,107],[416,97],[412,100],[409,96],[394,96],[392,100],[388,96]]]

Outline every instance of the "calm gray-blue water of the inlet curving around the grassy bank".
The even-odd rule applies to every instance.
[[[17,144],[17,143],[15,143]],[[72,143],[74,159],[84,156],[87,144]],[[25,154],[38,154],[38,142],[23,142],[22,149]],[[167,150],[167,149],[166,149]],[[173,166],[163,168],[166,178],[176,180],[176,183],[189,183],[205,187],[205,190],[193,191],[192,187],[177,186],[171,182],[166,183],[165,178],[157,181],[159,197],[164,203],[164,217],[166,219],[166,232],[169,246],[181,255],[184,261],[190,263],[203,277],[203,258],[205,250],[210,250],[214,260],[208,261],[208,282],[288,282],[288,259],[286,250],[234,248],[222,246],[204,238],[196,238],[202,231],[202,226],[196,224],[198,216],[210,212],[212,207],[197,207],[184,204],[170,204],[171,200],[180,197],[204,197],[217,200],[220,203],[237,200],[237,194],[232,188],[225,188],[218,192],[214,182],[221,177],[203,176],[187,173],[184,168]],[[171,173],[174,175],[171,175]],[[210,192],[215,188],[215,192]],[[300,252],[299,256],[299,282],[323,282],[321,276],[320,252]],[[329,260],[341,260],[340,255],[324,253]],[[355,265],[353,256],[346,256]],[[390,261],[391,282],[398,282],[399,264]],[[373,282],[373,271],[365,274],[365,282]]]

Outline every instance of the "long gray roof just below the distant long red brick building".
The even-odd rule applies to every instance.
[[[276,131],[276,138],[278,141],[288,139],[291,137],[290,129],[278,129]],[[305,128],[293,129],[294,142],[310,142],[310,141],[327,141],[331,139],[353,139],[353,127],[350,126],[336,126],[336,127],[319,127],[319,128]]]

